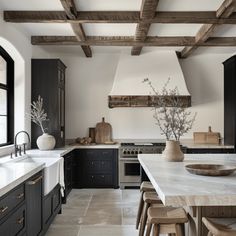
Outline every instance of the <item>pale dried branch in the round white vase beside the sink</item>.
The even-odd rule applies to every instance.
[[[43,98],[39,95],[37,101],[33,101],[31,103],[31,111],[30,114],[28,114],[36,125],[38,125],[43,133],[46,133],[45,131],[47,128],[43,127],[43,122],[48,121],[47,119],[47,113],[44,112],[43,109]]]

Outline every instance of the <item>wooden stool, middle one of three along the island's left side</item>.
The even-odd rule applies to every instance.
[[[144,207],[142,211],[142,217],[140,220],[139,236],[144,235],[145,226],[147,223],[148,208],[150,206],[153,206],[154,204],[158,204],[159,207],[163,206],[161,199],[158,197],[158,195],[155,192],[145,192],[143,194],[143,202],[144,202]]]

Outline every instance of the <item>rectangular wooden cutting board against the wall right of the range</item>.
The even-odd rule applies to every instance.
[[[208,132],[194,132],[194,143],[198,144],[220,144],[220,133],[212,132],[211,126],[208,127]]]

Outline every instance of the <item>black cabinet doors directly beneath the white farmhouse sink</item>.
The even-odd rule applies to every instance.
[[[44,235],[56,215],[61,211],[61,191],[58,184],[43,198],[43,232]]]

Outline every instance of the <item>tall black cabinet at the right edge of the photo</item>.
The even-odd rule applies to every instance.
[[[236,55],[224,64],[224,144],[236,144]]]

